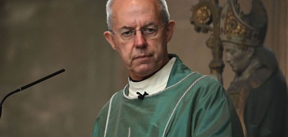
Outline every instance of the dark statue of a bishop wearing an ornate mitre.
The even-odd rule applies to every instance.
[[[261,0],[253,0],[248,15],[239,13],[235,0],[228,0],[222,11],[220,37],[235,72],[227,92],[245,137],[287,137],[287,84],[274,54],[263,46],[265,8]]]

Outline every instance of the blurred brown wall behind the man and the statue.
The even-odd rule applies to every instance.
[[[220,0],[220,5],[226,0]],[[193,71],[210,74],[208,34],[190,24],[198,0],[167,0],[176,20],[169,53]],[[244,13],[251,0],[241,0]],[[286,0],[263,0],[268,14],[265,46],[288,78]],[[3,104],[0,137],[90,137],[111,95],[127,83],[125,66],[103,37],[106,0],[1,0],[0,98],[62,68],[66,72],[17,93]],[[223,58],[225,59],[225,58]],[[226,65],[224,87],[234,73]]]

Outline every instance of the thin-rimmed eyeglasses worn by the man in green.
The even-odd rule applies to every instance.
[[[109,30],[112,34],[115,35],[120,35],[120,37],[125,40],[128,41],[130,39],[133,39],[134,36],[136,35],[136,31],[141,31],[141,34],[145,37],[145,38],[149,38],[149,39],[153,39],[155,37],[158,36],[158,30],[165,26],[168,23],[165,22],[163,25],[157,25],[157,24],[153,24],[153,25],[147,25],[142,27],[141,29],[135,30],[133,28],[125,28],[125,29],[120,29],[116,32],[113,32],[111,29]]]

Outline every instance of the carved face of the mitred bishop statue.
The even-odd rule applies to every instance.
[[[222,44],[226,53],[226,62],[230,64],[234,72],[242,74],[250,64],[253,52],[250,49],[241,50],[234,43],[223,42]]]

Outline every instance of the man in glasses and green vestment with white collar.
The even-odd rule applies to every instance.
[[[165,0],[109,0],[107,22],[129,84],[103,107],[93,137],[243,137],[221,84],[168,55],[175,21]]]

